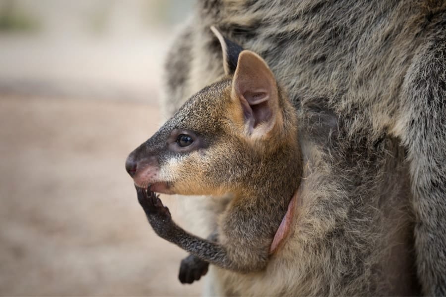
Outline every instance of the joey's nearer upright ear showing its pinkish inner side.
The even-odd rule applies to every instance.
[[[282,115],[276,79],[267,63],[250,50],[243,50],[238,57],[231,98],[241,107],[238,118],[249,135],[259,138],[279,127]]]

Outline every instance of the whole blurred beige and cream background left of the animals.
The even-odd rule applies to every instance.
[[[0,0],[0,295],[193,296],[124,170],[191,0]],[[164,197],[181,223],[175,198]]]

